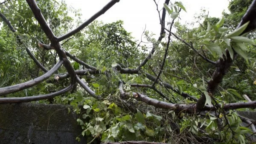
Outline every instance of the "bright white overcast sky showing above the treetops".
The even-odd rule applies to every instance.
[[[93,14],[98,12],[110,0],[66,0],[68,6],[75,9],[81,9],[82,19],[86,20]],[[201,8],[209,11],[210,17],[221,17],[223,10],[226,12],[229,4],[228,0],[180,0],[186,8],[187,12],[181,12],[181,23],[192,22],[194,15],[201,12]],[[164,0],[159,0],[160,9],[163,7]],[[174,0],[171,0],[174,3]],[[153,0],[120,0],[105,14],[97,20],[104,23],[123,20],[124,27],[128,32],[132,32],[132,36],[139,40],[145,28],[154,34],[159,35],[160,25],[156,11],[156,5]]]

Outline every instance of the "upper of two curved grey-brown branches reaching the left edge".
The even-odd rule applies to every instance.
[[[7,95],[9,93],[27,89],[29,87],[32,87],[32,86],[35,86],[36,84],[41,83],[42,81],[48,79],[54,72],[56,72],[58,70],[58,68],[61,67],[62,63],[63,63],[63,60],[58,61],[58,63],[56,63],[55,66],[53,66],[52,69],[50,69],[47,73],[45,73],[44,75],[41,75],[40,77],[35,78],[31,81],[27,81],[22,84],[16,84],[13,86],[7,86],[7,87],[0,88],[0,95]]]

